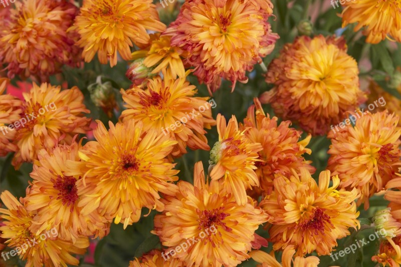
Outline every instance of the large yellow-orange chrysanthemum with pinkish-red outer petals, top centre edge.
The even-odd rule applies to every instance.
[[[195,67],[199,82],[216,91],[221,78],[246,83],[246,71],[274,48],[278,39],[267,22],[273,5],[259,0],[186,1],[165,34],[171,44],[189,53],[185,64]]]

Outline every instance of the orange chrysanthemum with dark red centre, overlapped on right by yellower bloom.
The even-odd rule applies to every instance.
[[[63,240],[74,243],[80,235],[104,237],[109,232],[110,223],[97,211],[81,215],[78,206],[80,192],[83,190],[81,176],[69,167],[79,164],[81,145],[59,145],[51,153],[39,152],[39,160],[34,161],[31,177],[32,185],[24,198],[28,211],[36,211],[34,232],[42,232],[54,227]]]

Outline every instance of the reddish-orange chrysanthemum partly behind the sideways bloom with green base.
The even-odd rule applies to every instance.
[[[315,172],[316,169],[310,165],[311,161],[302,157],[302,154],[312,152],[305,148],[311,136],[308,135],[304,140],[298,141],[301,132],[290,128],[290,121],[283,121],[277,126],[277,117],[270,119],[269,114],[263,111],[259,100],[255,98],[254,102],[255,105],[248,109],[244,124],[240,124],[240,130],[245,130],[249,141],[260,143],[263,147],[259,152],[259,159],[262,161],[256,162],[258,167],[256,174],[259,177],[260,189],[264,194],[270,194],[274,175],[277,173],[289,176],[290,169],[299,170],[301,167],[307,168],[312,174]],[[256,189],[258,188],[254,188]]]

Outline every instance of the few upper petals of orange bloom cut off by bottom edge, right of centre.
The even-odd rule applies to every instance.
[[[254,250],[249,253],[249,255],[256,261],[261,264],[258,264],[257,267],[317,267],[320,259],[316,256],[309,257],[301,257],[296,256],[293,258],[295,254],[295,249],[293,245],[287,246],[283,254],[281,256],[282,263],[276,260],[276,258],[262,250]],[[293,263],[293,264],[291,264]]]

